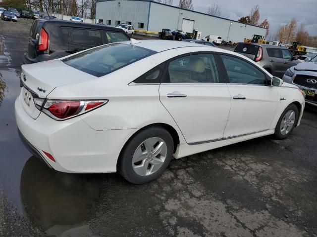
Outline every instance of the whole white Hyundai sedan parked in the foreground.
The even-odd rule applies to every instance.
[[[303,91],[247,57],[203,44],[130,40],[23,65],[15,117],[55,170],[141,184],[182,158],[300,124]]]

